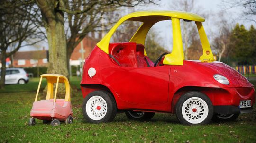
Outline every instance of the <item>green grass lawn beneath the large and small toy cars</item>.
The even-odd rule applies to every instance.
[[[38,78],[25,85],[7,85],[0,90],[0,142],[11,143],[256,143],[256,108],[242,114],[235,122],[183,126],[174,114],[155,114],[151,121],[138,122],[117,114],[111,123],[90,124],[82,116],[82,93],[74,92],[73,124],[52,127],[36,119],[28,126],[30,109],[35,99]],[[80,79],[71,79],[79,88]],[[256,81],[253,82],[256,85]],[[46,82],[43,82],[46,85]],[[40,95],[40,98],[45,96]]]

